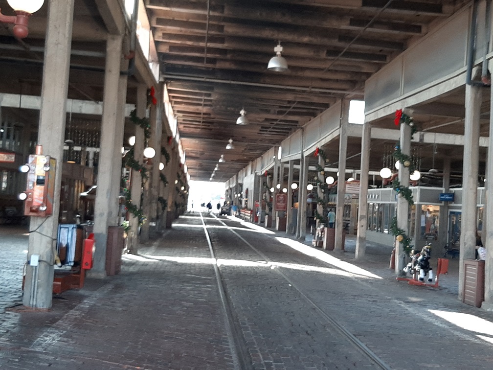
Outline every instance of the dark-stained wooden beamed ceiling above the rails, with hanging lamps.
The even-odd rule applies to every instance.
[[[146,0],[193,180],[226,181],[466,0]],[[289,71],[267,71],[281,41]],[[236,125],[240,110],[250,124]],[[225,149],[228,139],[235,149]]]

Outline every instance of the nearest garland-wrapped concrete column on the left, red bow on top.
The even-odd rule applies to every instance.
[[[137,86],[137,117],[144,118],[147,109],[147,87],[144,84]],[[144,150],[144,129],[135,125],[134,158],[142,163]],[[139,171],[132,170],[131,188],[132,203],[141,208],[142,177]],[[131,214],[129,216],[130,231],[128,235],[128,250],[131,254],[137,254],[139,250],[139,220]]]

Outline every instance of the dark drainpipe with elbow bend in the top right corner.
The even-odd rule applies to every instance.
[[[489,38],[490,38],[490,29],[491,23],[489,20],[489,14],[491,9],[491,0],[487,0],[486,4],[486,14],[485,14],[485,55],[483,58],[482,65],[482,77],[481,81],[474,81],[472,79],[472,68],[474,65],[474,44],[476,41],[476,33],[477,33],[477,22],[478,22],[478,3],[479,0],[474,0],[472,4],[472,18],[471,18],[471,26],[469,28],[469,40],[467,44],[467,70],[466,70],[466,83],[472,86],[481,86],[488,87],[491,84],[491,79],[488,72],[488,61],[486,59],[486,54],[488,53],[488,49],[490,46]]]

